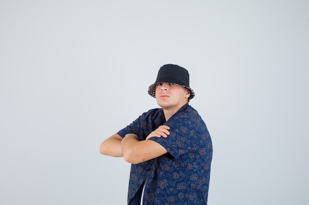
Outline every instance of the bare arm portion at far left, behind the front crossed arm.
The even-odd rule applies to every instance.
[[[100,153],[113,157],[123,157],[121,141],[122,138],[119,135],[112,135],[101,144]]]

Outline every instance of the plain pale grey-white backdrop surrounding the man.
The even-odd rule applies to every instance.
[[[0,204],[126,204],[99,146],[167,63],[212,137],[208,204],[308,205],[308,0],[1,0]]]

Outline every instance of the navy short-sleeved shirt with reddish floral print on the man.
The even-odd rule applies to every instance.
[[[206,205],[212,143],[206,124],[188,103],[167,121],[162,109],[143,113],[117,134],[134,133],[141,141],[163,124],[170,127],[170,135],[149,140],[168,152],[131,165],[128,204],[147,178],[143,205]]]

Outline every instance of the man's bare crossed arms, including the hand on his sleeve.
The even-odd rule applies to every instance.
[[[168,130],[168,126],[161,125],[143,141],[139,141],[138,136],[135,134],[127,134],[124,138],[114,134],[101,144],[100,153],[114,157],[123,156],[125,161],[132,164],[154,159],[165,154],[167,150],[160,144],[148,139],[152,137],[167,137],[169,135]]]

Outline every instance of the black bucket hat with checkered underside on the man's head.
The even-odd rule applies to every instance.
[[[189,85],[189,72],[179,65],[166,64],[160,67],[155,83],[148,88],[148,94],[155,98],[155,86],[157,83],[169,83],[188,88],[191,92],[189,100],[195,96]]]

